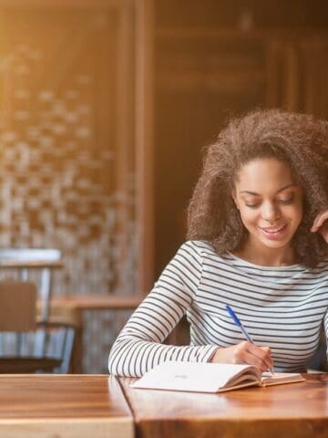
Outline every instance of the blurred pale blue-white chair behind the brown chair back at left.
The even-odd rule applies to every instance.
[[[46,362],[49,366],[48,370],[54,372],[67,372],[69,370],[70,359],[74,345],[73,342],[75,338],[75,321],[70,323],[69,320],[57,321],[55,318],[49,318],[52,273],[54,269],[62,266],[61,252],[57,249],[0,249],[0,271],[2,278],[6,279],[10,277],[23,282],[32,279],[34,282],[36,282],[38,289],[37,329],[34,330],[33,336],[31,336],[31,334],[27,336],[25,333],[17,334],[15,336],[13,335],[11,337],[12,344],[15,345],[15,355],[21,356],[23,351],[25,351],[26,354],[26,346],[31,344],[30,339],[33,338],[34,360],[32,360],[31,357],[30,346],[28,347],[28,355],[31,363],[36,361],[36,358],[38,359],[38,362],[40,362],[39,359],[45,358],[46,356]],[[17,332],[19,330],[14,328],[14,331]],[[10,337],[6,336],[6,339],[10,339]],[[51,351],[49,349],[51,349]],[[51,355],[55,354],[54,349],[56,349],[56,358],[60,359],[56,360],[56,362],[53,362],[54,366],[51,368],[48,359]],[[24,368],[23,362],[24,360],[19,360],[19,367],[22,369]],[[6,363],[9,363],[8,357],[6,357]],[[26,366],[26,363],[24,366]],[[33,368],[34,365],[31,369]]]

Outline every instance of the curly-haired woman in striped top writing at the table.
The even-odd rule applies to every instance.
[[[306,370],[328,334],[328,123],[281,110],[231,120],[207,152],[188,239],[119,334],[109,372],[138,377],[164,360]],[[183,315],[190,345],[162,345]]]

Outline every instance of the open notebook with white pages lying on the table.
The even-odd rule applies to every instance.
[[[251,365],[167,361],[146,372],[130,386],[171,391],[222,392],[294,381],[305,379],[297,373],[262,374]]]

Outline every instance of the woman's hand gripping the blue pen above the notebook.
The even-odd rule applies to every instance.
[[[258,347],[248,340],[232,345],[232,347],[217,349],[210,361],[254,365],[261,371],[271,370],[273,367],[271,349]]]

